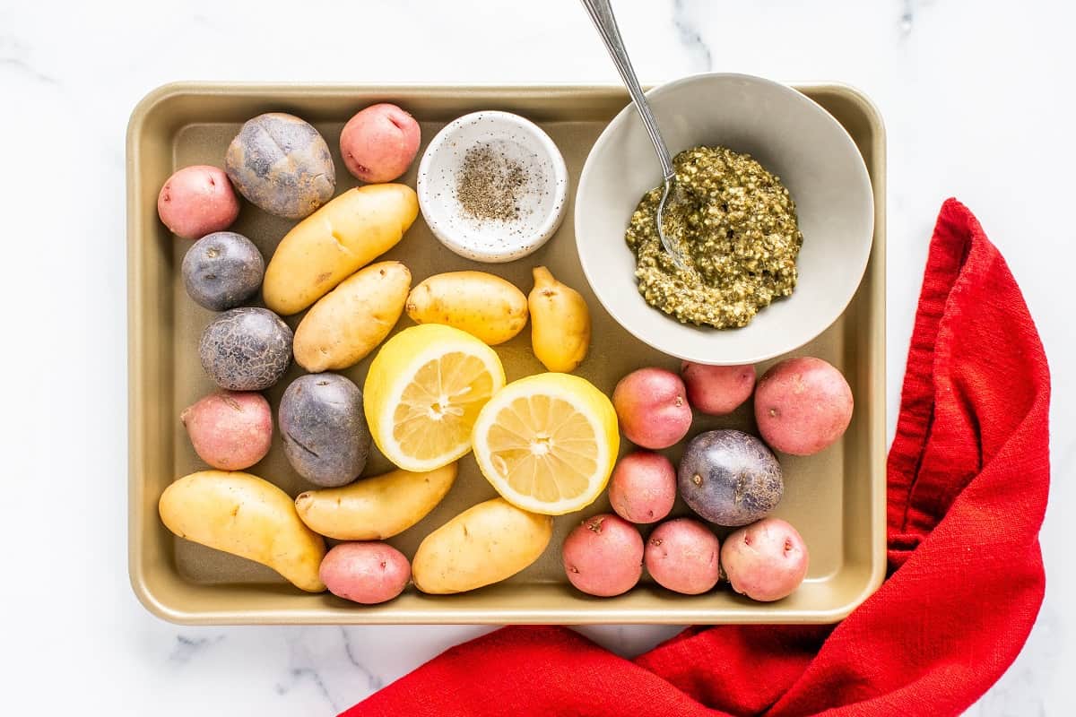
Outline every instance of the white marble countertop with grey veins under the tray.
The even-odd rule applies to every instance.
[[[645,81],[711,69],[841,81],[881,107],[891,435],[942,201],[968,204],[1005,254],[1054,370],[1048,586],[1023,653],[968,714],[1076,714],[1064,677],[1076,672],[1076,571],[1064,532],[1076,508],[1076,382],[1065,370],[1076,363],[1076,332],[1059,288],[1076,266],[1067,216],[1076,9],[1046,0],[617,0],[615,9]],[[10,546],[4,701],[24,707],[16,714],[328,716],[483,628],[181,628],[131,593],[124,132],[136,102],[174,80],[617,75],[576,0],[0,0],[0,305],[9,309],[0,444],[16,499],[0,521]],[[674,632],[583,631],[622,654]]]

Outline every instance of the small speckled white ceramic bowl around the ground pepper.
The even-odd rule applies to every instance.
[[[528,177],[519,217],[477,219],[461,205],[456,183],[464,156],[489,144],[523,167]],[[509,112],[475,112],[437,133],[419,163],[419,206],[434,235],[476,261],[513,261],[544,244],[567,211],[568,170],[553,140],[537,125]]]

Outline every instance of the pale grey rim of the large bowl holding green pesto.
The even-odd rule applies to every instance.
[[[820,322],[816,330],[808,332],[808,334],[803,336],[802,340],[796,339],[796,342],[794,344],[790,344],[780,348],[755,352],[750,355],[741,355],[731,358],[713,358],[712,356],[699,356],[690,349],[683,349],[677,346],[668,346],[662,344],[661,342],[653,341],[651,340],[650,336],[645,335],[645,332],[634,329],[631,326],[631,321],[625,320],[624,317],[622,316],[623,312],[620,312],[614,306],[610,305],[610,303],[603,298],[601,292],[598,291],[597,287],[601,284],[601,278],[600,278],[601,269],[599,267],[593,266],[587,262],[587,259],[585,258],[586,254],[581,249],[583,240],[580,236],[581,232],[579,230],[580,217],[582,215],[582,204],[583,204],[583,202],[580,201],[580,196],[583,193],[583,190],[590,181],[591,171],[594,169],[592,159],[594,158],[595,154],[598,150],[603,149],[606,144],[612,141],[611,140],[612,134],[620,130],[620,127],[625,121],[627,121],[627,118],[636,114],[635,106],[631,102],[628,102],[623,110],[617,113],[617,116],[614,116],[609,121],[609,124],[607,124],[605,128],[601,130],[601,133],[598,135],[597,140],[595,140],[594,144],[591,146],[591,150],[586,155],[586,160],[583,162],[583,167],[579,172],[579,183],[576,187],[576,197],[575,197],[576,206],[572,214],[572,225],[576,234],[575,236],[576,254],[579,256],[579,263],[583,269],[583,275],[586,277],[586,282],[590,284],[591,290],[594,292],[595,298],[597,298],[598,303],[601,304],[601,306],[606,310],[606,312],[609,313],[612,319],[617,321],[617,324],[619,324],[622,329],[624,329],[629,334],[632,334],[642,343],[647,344],[648,346],[655,348],[662,352],[663,354],[667,354],[669,356],[674,356],[684,361],[691,361],[694,363],[703,363],[709,365],[740,365],[748,363],[752,364],[761,363],[771,358],[776,358],[778,356],[782,356],[784,354],[794,352],[795,349],[810,343],[811,341],[817,339],[823,331],[833,326],[833,324],[838,318],[840,318],[840,316],[845,313],[845,310],[848,309],[848,304],[851,303],[852,299],[855,297],[856,291],[859,291],[859,287],[863,282],[863,276],[866,273],[866,268],[870,260],[870,247],[874,244],[874,224],[876,215],[876,206],[874,201],[874,186],[870,181],[870,174],[867,171],[866,160],[863,157],[863,153],[860,152],[859,146],[856,146],[855,141],[852,139],[852,135],[848,132],[845,126],[841,125],[836,117],[830,114],[830,112],[826,111],[825,107],[823,107],[821,104],[819,104],[811,98],[807,97],[805,94],[797,90],[795,87],[792,87],[791,85],[788,85],[782,82],[777,82],[775,80],[769,80],[767,77],[761,77],[759,75],[752,75],[741,72],[700,72],[700,73],[685,75],[683,77],[678,77],[676,80],[670,80],[669,82],[662,83],[660,85],[654,85],[653,87],[649,88],[646,91],[646,95],[647,98],[650,99],[652,97],[657,97],[666,91],[675,89],[681,85],[692,84],[696,82],[706,82],[710,80],[746,80],[751,83],[766,85],[769,86],[770,88],[776,88],[779,91],[785,92],[790,97],[794,97],[795,101],[799,102],[802,106],[804,106],[808,111],[815,112],[820,116],[822,116],[832,127],[832,129],[836,130],[837,135],[840,138],[840,141],[846,142],[854,150],[854,156],[859,160],[854,162],[855,173],[859,174],[860,182],[867,187],[866,199],[867,203],[869,204],[869,217],[868,221],[866,223],[866,226],[868,227],[868,236],[865,247],[866,250],[863,252],[863,259],[860,262],[858,269],[855,267],[849,267],[849,269],[855,271],[856,274],[854,288],[848,293],[847,297],[845,297],[844,301],[833,312],[832,316],[829,316],[824,322]],[[660,114],[660,112],[657,110],[654,110],[654,114],[657,115]],[[655,167],[657,166],[656,158],[654,159],[654,166]],[[672,321],[676,319],[669,317],[668,320]],[[735,329],[730,329],[730,330],[735,330]]]

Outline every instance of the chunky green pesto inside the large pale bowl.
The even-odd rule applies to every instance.
[[[803,234],[796,205],[780,178],[750,155],[725,147],[685,149],[672,160],[676,193],[666,234],[688,270],[662,248],[656,214],[662,187],[632,214],[625,239],[635,253],[639,293],[683,324],[745,327],[796,286]]]

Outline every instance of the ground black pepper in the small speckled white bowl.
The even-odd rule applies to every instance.
[[[476,219],[520,218],[520,196],[529,183],[526,170],[489,144],[467,149],[456,182],[464,212]]]

